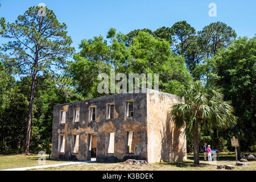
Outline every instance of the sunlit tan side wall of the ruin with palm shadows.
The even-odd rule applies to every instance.
[[[178,129],[168,112],[177,97],[162,92],[147,92],[148,162],[187,160],[186,136]]]

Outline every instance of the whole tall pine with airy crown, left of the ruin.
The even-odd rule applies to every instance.
[[[57,69],[64,69],[65,58],[71,55],[72,40],[67,35],[65,23],[59,23],[52,10],[46,8],[46,15],[39,16],[41,7],[30,7],[24,15],[19,15],[15,23],[7,23],[3,32],[4,38],[10,42],[3,44],[7,53],[3,57],[6,64],[16,68],[16,73],[30,76],[30,104],[28,106],[27,135],[25,153],[29,152],[32,109],[34,105],[35,88],[38,80],[45,75],[51,75],[49,81],[59,81]],[[57,84],[57,82],[56,82]]]

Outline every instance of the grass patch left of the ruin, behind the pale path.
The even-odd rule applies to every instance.
[[[32,167],[39,166],[38,164],[39,156],[37,154],[24,155],[0,155],[0,170],[1,169],[10,169],[10,168],[20,168],[20,167]],[[57,164],[57,163],[67,163],[67,161],[57,161],[57,160],[48,160],[49,154],[46,154],[46,165],[48,164]]]

